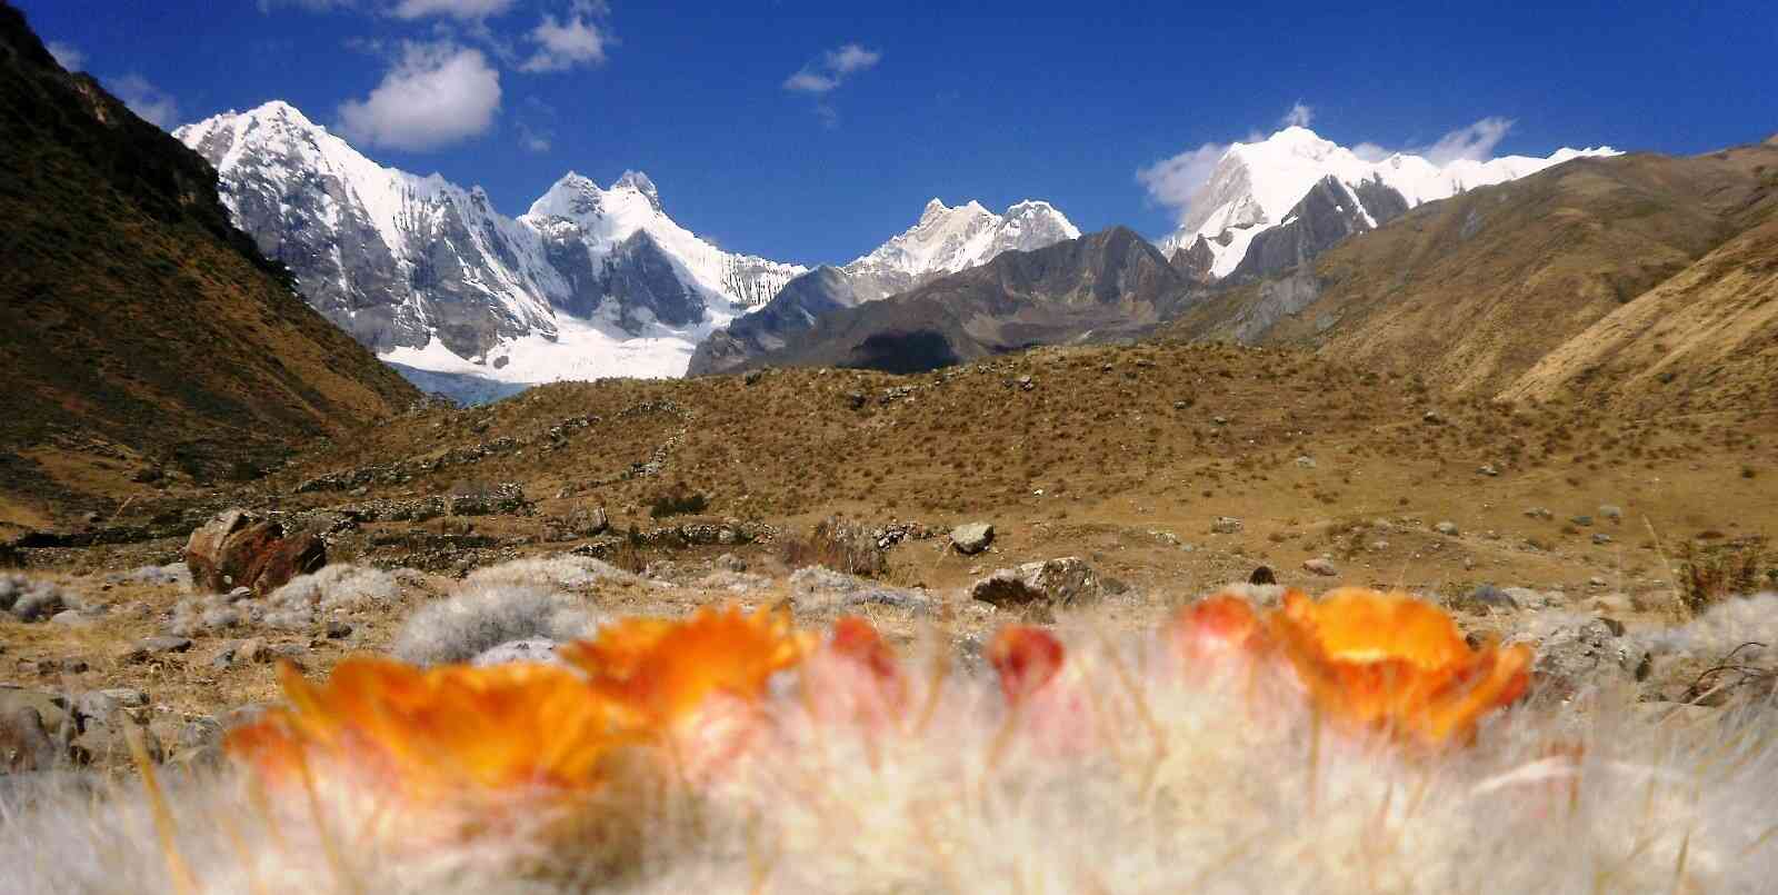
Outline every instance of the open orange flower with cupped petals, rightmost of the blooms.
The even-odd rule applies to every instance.
[[[1405,594],[1287,593],[1266,628],[1319,710],[1426,746],[1470,742],[1531,681],[1527,646],[1470,649],[1449,616]]]

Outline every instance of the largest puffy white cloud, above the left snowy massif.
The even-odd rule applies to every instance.
[[[485,133],[500,112],[500,71],[480,50],[409,43],[377,89],[340,105],[340,132],[364,146],[425,151]]]

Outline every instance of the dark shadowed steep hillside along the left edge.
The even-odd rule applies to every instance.
[[[153,493],[151,468],[247,475],[418,397],[229,226],[203,158],[4,4],[0,155],[0,521]]]

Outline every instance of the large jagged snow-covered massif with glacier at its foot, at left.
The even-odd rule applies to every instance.
[[[699,238],[640,173],[610,189],[571,173],[512,219],[281,101],[174,137],[217,167],[236,226],[313,306],[386,361],[443,374],[432,386],[679,375],[704,335],[807,270]]]

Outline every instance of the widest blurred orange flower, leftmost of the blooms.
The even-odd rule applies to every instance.
[[[290,708],[228,737],[228,751],[274,783],[331,762],[411,799],[461,790],[585,790],[633,719],[555,665],[418,669],[348,658],[325,685],[279,669]]]

